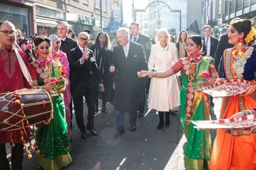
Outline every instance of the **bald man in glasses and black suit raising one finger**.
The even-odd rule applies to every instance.
[[[87,48],[90,35],[81,32],[78,35],[78,46],[69,51],[69,67],[70,67],[70,88],[75,110],[77,126],[81,131],[81,138],[86,139],[86,130],[89,130],[93,136],[97,136],[94,129],[94,113],[95,113],[95,78],[100,85],[100,91],[104,92],[104,86],[100,77],[100,71],[95,62],[92,50]],[[88,122],[84,126],[83,117],[83,97],[87,101]]]

